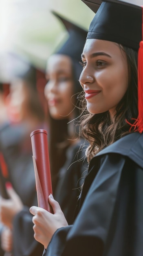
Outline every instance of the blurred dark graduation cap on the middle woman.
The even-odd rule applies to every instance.
[[[85,29],[79,27],[73,22],[67,20],[62,15],[59,15],[57,12],[52,11],[54,16],[62,22],[62,25],[66,28],[68,32],[68,39],[59,47],[55,54],[63,54],[69,56],[73,61],[73,72],[75,75],[75,93],[82,90],[79,84],[79,76],[82,71],[82,67],[79,64],[81,61],[81,53],[83,51],[87,32]]]

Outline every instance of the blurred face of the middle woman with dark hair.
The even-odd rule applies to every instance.
[[[44,94],[54,119],[69,118],[74,106],[72,63],[68,56],[55,54],[48,59]]]

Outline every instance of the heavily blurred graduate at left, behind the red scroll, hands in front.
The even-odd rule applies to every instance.
[[[0,132],[0,153],[7,164],[7,182],[10,182],[7,184],[9,199],[1,198],[4,226],[0,238],[3,251],[12,252],[13,256],[32,256],[41,253],[43,247],[33,239],[29,213],[31,205],[37,204],[30,133],[47,126],[36,90],[36,69],[19,56],[14,61],[8,95],[10,122]]]

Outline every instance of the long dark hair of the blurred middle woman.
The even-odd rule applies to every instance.
[[[73,60],[71,59],[73,62]],[[50,157],[50,168],[51,168],[51,178],[52,178],[52,187],[53,193],[57,186],[58,180],[58,171],[64,165],[66,161],[66,150],[73,144],[73,139],[78,138],[78,117],[80,115],[79,103],[77,97],[78,92],[81,90],[78,78],[75,72],[76,63],[73,63],[73,97],[71,98],[71,103],[73,104],[73,113],[74,119],[72,123],[76,123],[77,126],[74,131],[75,137],[70,134],[68,124],[68,116],[66,119],[53,119],[50,115],[48,117],[48,125],[50,130],[50,136],[48,138],[48,144],[50,148],[49,157]],[[79,90],[80,89],[80,90]]]

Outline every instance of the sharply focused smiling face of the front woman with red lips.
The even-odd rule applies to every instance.
[[[118,44],[87,39],[81,55],[83,71],[79,78],[90,113],[110,111],[116,114],[117,104],[128,88],[128,63]]]

